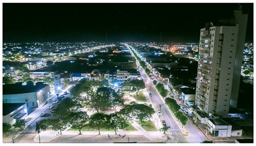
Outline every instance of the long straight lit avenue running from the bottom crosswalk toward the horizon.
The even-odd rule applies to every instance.
[[[131,49],[131,47],[129,47]],[[131,54],[134,57],[134,54],[131,52]],[[151,93],[153,95],[153,98],[151,98],[152,104],[154,109],[160,110],[159,105],[161,105],[161,116],[160,116],[160,121],[165,120],[167,126],[170,126],[170,129],[168,133],[170,134],[171,137],[173,137],[176,142],[192,142],[192,143],[200,143],[202,141],[208,140],[208,138],[204,135],[204,133],[194,124],[192,124],[192,121],[190,120],[186,126],[183,128],[180,128],[178,126],[177,121],[174,119],[172,116],[169,108],[165,105],[165,102],[163,98],[158,94],[156,89],[154,88],[153,85],[153,80],[150,78],[147,78],[146,73],[143,71],[143,69],[139,67],[140,74],[142,78],[147,79],[146,81],[146,91],[148,93]],[[156,79],[156,78],[154,78]],[[157,79],[158,80],[158,79]],[[158,82],[160,82],[158,80]],[[164,84],[165,88],[168,88],[167,84],[165,82],[161,82]],[[184,135],[184,131],[188,131],[188,136]],[[193,138],[192,138],[193,137]]]

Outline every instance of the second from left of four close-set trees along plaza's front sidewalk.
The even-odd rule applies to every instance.
[[[88,115],[86,112],[75,112],[71,114],[70,124],[73,129],[78,129],[79,134],[81,133],[81,129],[84,127],[84,124],[88,121]]]

